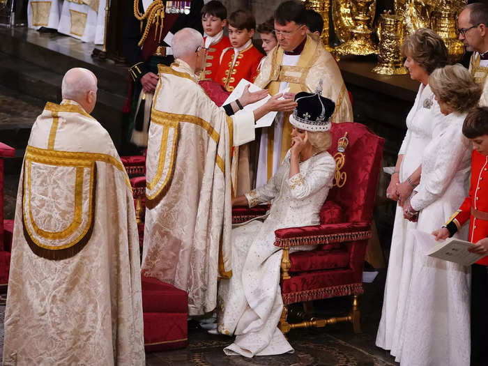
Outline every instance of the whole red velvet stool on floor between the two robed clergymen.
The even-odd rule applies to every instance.
[[[188,345],[188,294],[153,277],[142,276],[144,349],[165,351]]]

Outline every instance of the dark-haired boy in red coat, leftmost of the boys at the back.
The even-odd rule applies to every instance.
[[[208,49],[205,58],[205,68],[200,74],[200,80],[213,80],[218,82],[217,70],[222,51],[231,47],[229,37],[224,36],[224,27],[227,25],[227,9],[220,1],[209,1],[201,8],[201,25],[204,27],[206,37],[205,47]]]

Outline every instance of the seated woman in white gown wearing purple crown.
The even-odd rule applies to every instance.
[[[320,87],[319,87],[320,88]],[[277,328],[283,309],[280,291],[282,250],[275,230],[319,224],[319,212],[332,186],[335,161],[330,147],[330,116],[335,104],[317,93],[296,94],[290,116],[291,148],[268,183],[233,205],[273,200],[266,220],[251,220],[232,230],[232,277],[219,287],[218,331],[236,335],[227,355],[245,357],[293,351]],[[314,246],[292,250],[312,250]]]

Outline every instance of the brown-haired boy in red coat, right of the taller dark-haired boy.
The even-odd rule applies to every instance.
[[[247,10],[237,10],[229,17],[229,38],[231,46],[220,55],[218,82],[227,91],[233,91],[241,79],[254,82],[259,61],[263,54],[252,45],[256,20]]]

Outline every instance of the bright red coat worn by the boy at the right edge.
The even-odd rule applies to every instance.
[[[459,210],[445,223],[445,226],[452,234],[468,220],[470,220],[468,240],[471,243],[476,243],[488,236],[488,156],[475,150],[471,154],[469,195],[464,199]],[[484,257],[476,263],[488,266],[488,257]]]

